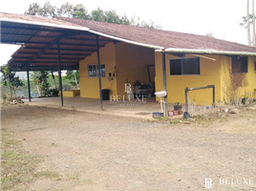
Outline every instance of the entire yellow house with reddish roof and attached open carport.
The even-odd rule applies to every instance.
[[[100,98],[104,89],[111,97],[125,97],[125,84],[133,86],[136,81],[151,82],[154,92],[167,92],[165,104],[184,103],[185,89],[208,85],[215,87],[216,103],[255,96],[255,47],[203,35],[83,19],[0,15],[1,29],[5,30],[1,42],[23,43],[9,65],[28,75],[30,70],[57,69],[60,74],[61,70],[79,69],[81,97]],[[11,28],[16,29],[14,34]],[[189,92],[188,100],[210,105],[212,90]]]

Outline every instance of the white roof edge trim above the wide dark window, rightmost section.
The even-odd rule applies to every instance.
[[[156,50],[159,52],[159,50]],[[256,53],[248,52],[228,52],[228,51],[217,51],[217,50],[201,50],[201,49],[174,49],[168,48],[163,50],[164,53],[203,53],[203,54],[226,54],[226,55],[254,55]]]

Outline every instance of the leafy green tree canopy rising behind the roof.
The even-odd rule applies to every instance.
[[[46,1],[44,6],[40,6],[38,3],[32,3],[29,9],[24,13],[45,17],[60,16],[81,18],[106,23],[132,25],[149,29],[161,29],[160,25],[156,24],[152,20],[140,21],[139,16],[133,16],[132,18],[129,18],[126,14],[119,15],[117,14],[117,11],[103,11],[100,8],[97,8],[96,10],[89,12],[85,9],[84,5],[73,5],[69,2],[61,5],[60,8],[56,8],[55,6],[51,5],[49,1]]]

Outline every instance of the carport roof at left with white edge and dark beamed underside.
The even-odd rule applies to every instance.
[[[35,16],[17,17],[16,14],[5,13],[0,13],[0,16],[0,43],[21,45],[12,53],[8,62],[14,71],[26,71],[27,66],[31,71],[56,71],[58,42],[61,70],[77,70],[80,60],[96,52],[96,34],[88,32],[87,28]],[[112,41],[102,36],[99,38],[99,47],[104,47]]]

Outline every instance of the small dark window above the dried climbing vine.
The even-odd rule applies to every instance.
[[[248,73],[248,57],[232,57],[232,73]]]

